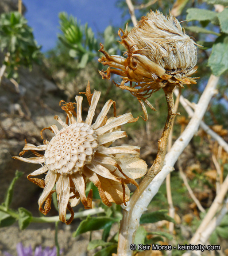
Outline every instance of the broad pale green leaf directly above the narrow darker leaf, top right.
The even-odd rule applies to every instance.
[[[186,19],[188,21],[192,20],[198,20],[198,21],[213,21],[216,19],[216,12],[205,10],[205,9],[199,9],[199,8],[189,8],[187,10],[187,17]]]

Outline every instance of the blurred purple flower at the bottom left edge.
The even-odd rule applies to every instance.
[[[60,250],[62,253],[62,250]],[[4,252],[5,256],[12,256],[8,252]],[[33,256],[31,245],[29,247],[23,247],[22,243],[17,244],[17,255],[18,256]],[[56,247],[50,248],[46,247],[42,249],[41,245],[35,248],[34,256],[56,256],[57,250]]]

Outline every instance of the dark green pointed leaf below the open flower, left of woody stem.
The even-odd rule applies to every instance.
[[[114,222],[116,222],[116,220],[113,218],[88,216],[86,220],[81,221],[77,230],[73,233],[73,236],[78,236],[87,231],[107,228],[110,224]]]

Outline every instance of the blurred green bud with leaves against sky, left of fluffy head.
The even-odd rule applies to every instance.
[[[99,44],[94,37],[94,33],[88,25],[82,26],[73,16],[68,16],[66,12],[59,14],[60,29],[63,34],[59,34],[59,40],[69,48],[69,55],[77,58],[78,68],[85,68],[86,64],[93,60],[99,50]]]

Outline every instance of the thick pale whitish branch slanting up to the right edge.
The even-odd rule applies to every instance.
[[[197,104],[196,111],[190,120],[189,124],[185,128],[185,131],[181,134],[181,136],[178,138],[178,140],[175,141],[173,147],[171,148],[170,152],[166,154],[165,158],[165,165],[162,168],[162,171],[158,173],[157,176],[152,180],[152,182],[149,184],[149,186],[146,188],[146,190],[143,192],[143,194],[140,196],[139,200],[135,203],[134,208],[129,208],[129,204],[127,204],[126,211],[131,209],[132,215],[129,219],[127,219],[127,224],[129,224],[129,231],[128,236],[126,238],[128,239],[129,246],[132,244],[132,235],[129,233],[134,233],[139,225],[139,220],[141,215],[144,211],[147,210],[148,204],[151,202],[152,198],[156,195],[158,192],[158,189],[160,188],[162,182],[166,178],[166,176],[174,170],[174,164],[178,160],[178,157],[183,152],[185,147],[189,144],[190,140],[194,136],[194,134],[197,132],[199,124],[201,119],[203,118],[208,104],[214,95],[216,85],[218,83],[219,77],[211,75],[208,81],[208,84],[201,95],[201,98]],[[141,184],[140,184],[141,185]],[[121,222],[123,225],[124,219]],[[126,235],[126,234],[124,234]],[[123,240],[123,236],[119,237],[119,242],[121,243],[121,239]],[[131,255],[131,250],[128,246],[128,253],[126,253],[124,256]],[[121,254],[119,254],[120,256]]]

